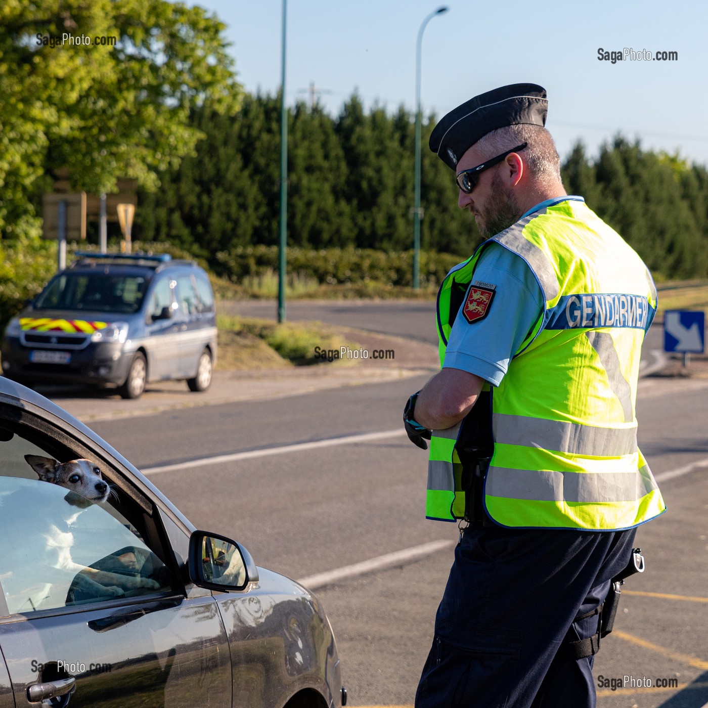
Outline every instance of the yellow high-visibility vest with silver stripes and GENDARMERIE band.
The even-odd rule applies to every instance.
[[[441,366],[466,299],[461,293],[491,243],[529,265],[545,309],[501,384],[484,386],[491,389],[493,437],[487,515],[508,527],[617,530],[663,513],[661,492],[636,445],[634,416],[641,343],[656,311],[646,265],[580,200],[533,212],[481,244],[443,280]],[[433,430],[428,518],[464,517],[455,447],[462,422]]]

